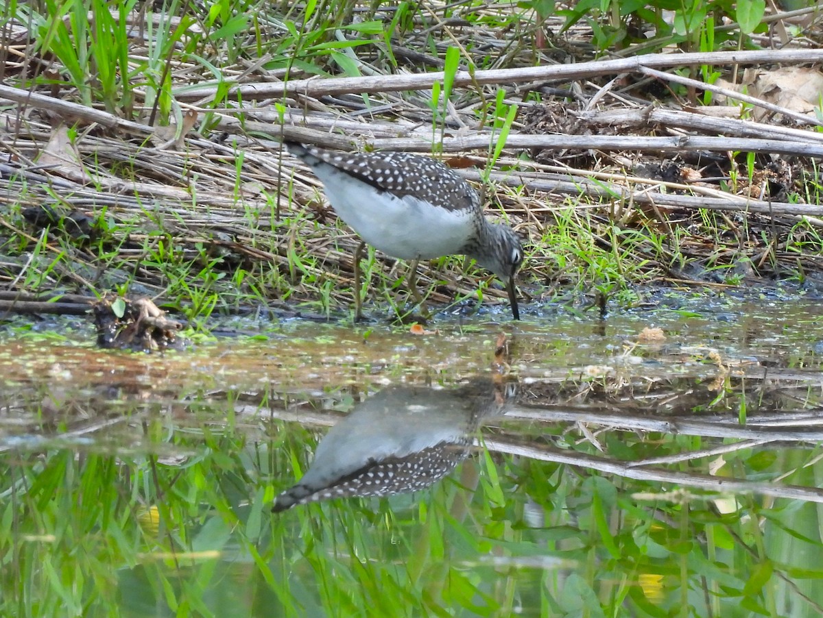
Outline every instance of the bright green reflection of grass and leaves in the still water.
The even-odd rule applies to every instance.
[[[224,413],[214,408],[201,417]],[[174,431],[160,423],[154,433],[170,436],[163,441],[148,427],[146,447],[190,453],[182,464],[93,451],[77,459],[55,447],[3,466],[4,489],[14,496],[4,500],[14,540],[0,542],[3,611],[816,616],[823,603],[814,584],[823,573],[802,559],[823,550],[812,540],[820,521],[811,504],[736,502],[665,491],[658,482],[581,476],[561,464],[472,459],[458,478],[414,500],[337,501],[272,517],[273,490],[282,488],[272,487],[272,471],[305,462],[314,438],[249,444],[237,427],[209,425]],[[279,422],[267,427],[273,436],[282,430]],[[649,434],[621,450],[648,451],[659,438]],[[683,441],[657,452],[693,447]],[[801,450],[743,451],[728,467],[774,476],[777,457],[797,468],[809,459]],[[499,467],[499,485],[486,466]],[[813,484],[818,468],[793,482]],[[474,491],[462,487],[478,475]],[[536,510],[545,519],[533,519]]]

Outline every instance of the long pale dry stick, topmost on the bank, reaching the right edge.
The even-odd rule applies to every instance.
[[[594,76],[615,73],[642,72],[646,67],[691,67],[700,64],[762,64],[783,62],[823,62],[823,49],[781,49],[743,52],[708,53],[650,53],[635,58],[560,64],[542,67],[518,67],[513,69],[491,69],[487,71],[458,71],[454,76],[455,87],[472,84],[515,84],[528,81],[577,81]],[[363,94],[391,92],[397,90],[427,90],[444,80],[444,71],[418,73],[414,75],[389,75],[342,78],[309,78],[282,83],[256,83],[237,85],[230,88],[227,96],[244,99],[281,99],[284,95],[318,97],[323,95]],[[700,87],[705,85],[702,82]],[[201,99],[216,95],[218,86],[184,87],[175,90],[174,96],[180,100]],[[2,92],[0,92],[2,95]],[[820,124],[813,118],[805,122]]]

